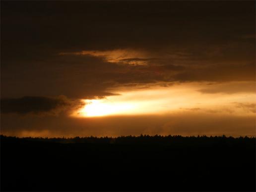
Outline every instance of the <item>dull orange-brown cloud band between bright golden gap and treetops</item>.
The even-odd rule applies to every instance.
[[[60,116],[11,117],[4,114],[1,133],[16,136],[120,136],[162,135],[256,135],[255,116],[234,116],[187,111],[170,115],[68,118]],[[13,121],[15,118],[15,121]]]

